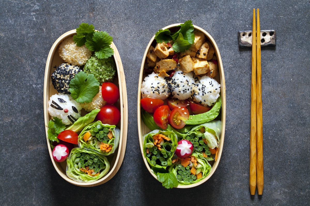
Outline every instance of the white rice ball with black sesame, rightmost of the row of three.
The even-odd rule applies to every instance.
[[[194,88],[194,100],[205,106],[212,106],[221,91],[221,85],[213,78],[203,76],[196,82]]]

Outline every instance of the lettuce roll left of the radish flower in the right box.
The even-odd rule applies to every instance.
[[[166,169],[172,164],[178,139],[174,132],[158,129],[144,135],[143,154],[152,167]]]

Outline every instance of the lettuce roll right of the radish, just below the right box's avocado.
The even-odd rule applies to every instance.
[[[196,153],[202,153],[203,155],[208,157],[207,160],[213,160],[212,156],[210,156],[210,149],[214,149],[215,147],[219,147],[219,137],[221,135],[221,121],[220,120],[212,120],[205,124],[201,124],[192,128],[185,137],[184,140],[190,141],[194,146],[194,151]]]

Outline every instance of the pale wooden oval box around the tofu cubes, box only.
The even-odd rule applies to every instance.
[[[173,27],[177,27],[179,26],[180,24],[177,23],[177,24],[171,24],[167,27],[164,27],[162,28],[162,30],[165,30],[165,29],[171,29]],[[216,81],[220,82],[221,84],[221,92],[220,92],[220,95],[222,97],[222,108],[221,108],[221,137],[220,137],[220,141],[219,141],[219,153],[218,153],[218,158],[216,161],[213,161],[213,163],[211,164],[211,172],[210,174],[205,178],[203,179],[202,181],[199,181],[197,183],[193,183],[193,184],[190,184],[190,185],[178,185],[177,188],[190,188],[190,187],[195,187],[195,186],[198,186],[204,182],[206,182],[211,176],[212,174],[214,174],[217,166],[219,165],[219,160],[221,158],[221,154],[222,154],[222,151],[223,151],[223,145],[224,145],[224,133],[225,133],[225,119],[226,119],[226,94],[225,94],[225,91],[226,91],[226,88],[225,88],[225,78],[224,78],[224,70],[223,70],[223,63],[222,63],[222,59],[221,59],[221,56],[220,56],[220,53],[219,53],[219,48],[217,47],[214,39],[212,38],[212,36],[206,32],[205,30],[203,30],[202,28],[200,27],[197,27],[194,25],[194,28],[197,29],[198,31],[202,32],[205,34],[206,38],[211,42],[211,44],[213,45],[214,49],[215,49],[215,53],[214,55],[217,57],[217,60],[218,60],[218,74],[215,79]],[[140,149],[141,149],[141,153],[142,153],[142,158],[144,160],[144,163],[145,163],[145,166],[147,167],[148,171],[153,175],[153,177],[155,179],[157,179],[156,175],[152,172],[150,166],[148,165],[148,162],[146,160],[146,158],[144,158],[144,155],[143,155],[143,136],[144,134],[150,132],[151,130],[149,130],[147,128],[147,126],[145,126],[145,124],[143,123],[142,119],[141,119],[141,106],[140,106],[140,100],[141,100],[141,85],[142,85],[142,81],[144,79],[144,64],[146,62],[146,55],[147,55],[147,52],[148,52],[148,48],[153,44],[153,43],[156,43],[156,40],[154,40],[155,38],[155,35],[152,37],[152,39],[150,40],[150,42],[148,43],[148,46],[147,48],[145,49],[145,52],[144,52],[144,56],[143,56],[143,60],[142,60],[142,64],[141,64],[141,69],[140,69],[140,75],[139,75],[139,86],[138,86],[138,132],[139,132],[139,143],[140,143]]]

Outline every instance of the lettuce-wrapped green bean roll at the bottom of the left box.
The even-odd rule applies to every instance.
[[[73,148],[67,158],[67,176],[77,182],[94,182],[109,169],[108,159],[95,151]]]

